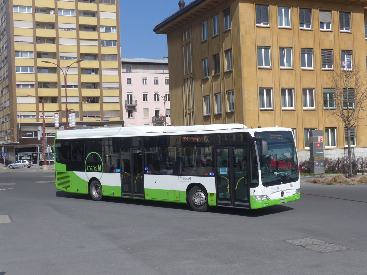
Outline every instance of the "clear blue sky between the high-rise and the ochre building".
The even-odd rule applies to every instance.
[[[167,35],[153,28],[178,10],[178,0],[120,0],[121,57],[167,56]]]

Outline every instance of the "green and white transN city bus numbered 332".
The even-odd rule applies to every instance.
[[[300,198],[290,128],[243,124],[58,131],[56,188],[89,195],[257,209]],[[266,167],[267,166],[267,167]]]

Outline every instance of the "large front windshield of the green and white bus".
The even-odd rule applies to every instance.
[[[291,132],[261,132],[256,137],[265,137],[268,154],[259,155],[261,181],[263,186],[296,182],[299,167],[294,139]],[[257,142],[258,152],[260,144]]]

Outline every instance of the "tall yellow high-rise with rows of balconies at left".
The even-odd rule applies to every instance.
[[[66,102],[76,126],[123,125],[118,11],[118,0],[1,0],[0,146],[7,160],[28,154],[37,162],[38,99],[49,144],[55,112],[66,126]],[[67,100],[62,72],[43,61],[68,68]]]

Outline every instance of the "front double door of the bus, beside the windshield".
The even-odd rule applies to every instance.
[[[222,206],[249,208],[247,148],[216,148],[217,202]]]

